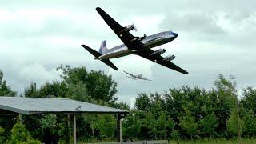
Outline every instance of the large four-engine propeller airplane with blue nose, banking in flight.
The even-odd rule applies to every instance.
[[[158,49],[155,51],[151,50],[153,47],[161,46],[167,42],[173,41],[178,37],[178,34],[174,33],[173,31],[164,31],[150,36],[144,34],[142,37],[134,37],[134,35],[130,34],[130,30],[137,30],[134,24],[123,27],[113,18],[111,18],[109,14],[106,14],[106,12],[100,7],[97,7],[96,10],[124,44],[115,46],[112,49],[108,49],[106,48],[106,40],[104,40],[99,51],[93,50],[89,46],[82,45],[82,47],[88,50],[90,54],[94,55],[94,59],[98,59],[114,70],[118,70],[118,68],[114,66],[112,62],[110,62],[110,58],[119,58],[129,54],[137,54],[142,58],[146,58],[152,62],[156,62],[182,74],[188,74],[186,70],[183,70],[171,62],[175,58],[174,55],[168,55],[166,57],[161,56],[161,54],[166,52],[166,49]]]

